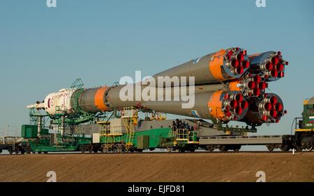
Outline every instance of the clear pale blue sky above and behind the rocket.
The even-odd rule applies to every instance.
[[[227,47],[282,51],[285,77],[269,84],[288,114],[258,134],[290,133],[313,97],[314,1],[0,1],[0,128],[29,122],[26,106],[82,78],[112,85]]]

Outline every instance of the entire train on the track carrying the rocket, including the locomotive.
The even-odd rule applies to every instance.
[[[314,145],[314,97],[304,101],[302,117],[294,119],[294,135],[248,136],[246,133],[256,130],[228,127],[200,119],[145,117],[145,120],[140,120],[137,112],[135,108],[124,108],[119,117],[94,124],[78,124],[75,129],[66,124],[58,124],[50,129],[51,124],[44,126],[42,118],[36,115],[35,123],[22,125],[22,138],[0,138],[0,153],[2,150],[8,150],[10,154],[121,153],[142,152],[145,149],[167,149],[168,152],[194,152],[197,149],[212,152],[219,149],[220,152],[238,152],[243,145],[266,145],[269,152],[277,148],[284,152],[290,149],[300,152],[311,151]],[[176,122],[185,126],[173,126]]]

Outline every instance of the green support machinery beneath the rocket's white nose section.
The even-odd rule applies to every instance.
[[[77,79],[71,88],[82,88],[82,81]],[[84,134],[73,134],[73,127],[84,122],[94,122],[95,115],[84,113],[82,115],[67,116],[64,108],[58,108],[57,115],[50,116],[46,112],[40,112],[31,108],[30,124],[22,125],[22,140],[15,146],[15,151],[24,154],[31,152],[38,154],[47,152],[74,152],[81,145],[89,145],[91,138]],[[50,120],[50,125],[46,126]],[[54,129],[50,129],[54,126]],[[69,132],[70,134],[66,133]]]

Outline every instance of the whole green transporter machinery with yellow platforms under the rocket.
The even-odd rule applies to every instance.
[[[171,127],[135,131],[138,115],[136,108],[124,108],[105,115],[94,117],[66,116],[60,110],[58,115],[50,117],[31,109],[30,124],[22,125],[22,140],[17,143],[15,151],[22,154],[47,152],[142,152],[144,149],[167,149],[169,152],[194,151],[197,142],[197,131],[174,129]],[[114,118],[110,120],[111,117]],[[50,119],[50,126],[47,124]],[[103,119],[103,120],[100,120]],[[83,122],[97,123],[100,133],[87,137],[82,133],[73,133],[73,127]],[[50,129],[54,127],[54,129]]]

